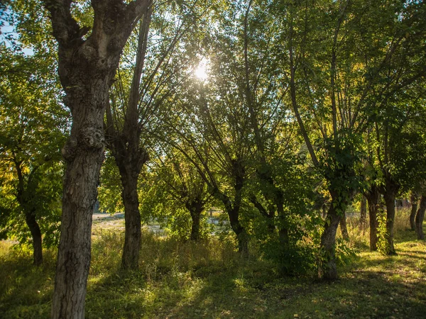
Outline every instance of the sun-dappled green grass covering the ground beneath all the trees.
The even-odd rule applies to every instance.
[[[358,254],[339,279],[281,277],[231,240],[180,242],[143,232],[140,270],[119,270],[121,233],[94,230],[86,318],[425,318],[426,243],[395,220],[398,255],[368,251],[368,231],[349,221]],[[0,318],[48,318],[55,252],[43,267],[0,244]]]

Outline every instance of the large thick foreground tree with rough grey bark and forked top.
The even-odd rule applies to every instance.
[[[72,114],[70,138],[62,148],[66,167],[53,318],[84,318],[92,211],[104,159],[104,111],[123,47],[150,4],[93,0],[93,23],[81,26],[72,15],[74,2],[43,1],[58,42],[64,103]]]

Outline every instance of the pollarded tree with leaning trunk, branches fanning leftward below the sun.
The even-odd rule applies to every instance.
[[[220,68],[222,58],[227,59],[211,59],[212,65]],[[229,69],[235,72],[234,66]],[[241,223],[241,208],[249,174],[248,113],[236,87],[229,86],[234,81],[231,74],[213,71],[210,75],[206,84],[189,83],[187,92],[178,96],[164,140],[197,168],[228,214],[239,252],[247,254],[249,234]]]

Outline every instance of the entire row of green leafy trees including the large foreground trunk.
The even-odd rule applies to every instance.
[[[197,240],[202,212],[221,207],[241,254],[256,238],[283,272],[315,265],[324,279],[337,276],[337,228],[357,193],[371,250],[395,253],[399,194],[421,197],[412,225],[423,238],[422,1],[34,0],[9,10],[19,40],[4,35],[1,46],[0,225],[22,235],[13,225],[25,217],[35,264],[38,223],[58,236],[67,137],[53,318],[84,317],[99,179],[102,207],[125,211],[124,269],[138,267],[141,211],[176,230],[190,218]],[[13,52],[30,44],[30,55]],[[207,80],[193,76],[203,60]]]

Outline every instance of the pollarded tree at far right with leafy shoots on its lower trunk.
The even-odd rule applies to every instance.
[[[393,223],[396,196],[425,183],[425,140],[420,129],[425,126],[424,99],[415,96],[415,91],[407,91],[409,96],[400,94],[400,101],[389,101],[390,105],[381,114],[381,123],[376,122],[375,164],[381,173],[376,183],[386,204],[386,233],[379,238],[379,250],[384,254],[395,254]],[[413,107],[413,98],[417,100],[417,103],[414,101],[417,108]],[[419,217],[422,206],[424,203],[420,201]]]

